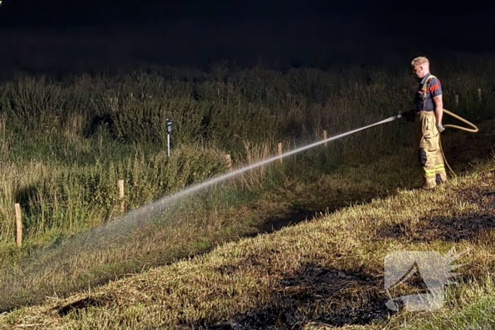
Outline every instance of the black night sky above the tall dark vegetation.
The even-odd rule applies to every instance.
[[[310,62],[344,48],[349,56],[367,52],[373,57],[382,52],[410,56],[436,50],[495,50],[491,42],[495,4],[487,8],[458,7],[441,0],[410,3],[415,5],[404,8],[404,1],[369,0],[4,0],[0,33],[4,31],[8,42],[0,36],[0,56],[7,52],[1,49],[1,42],[9,45],[8,51],[18,54],[16,57],[24,55],[25,50],[16,49],[27,47],[19,37],[6,37],[6,31],[14,30],[35,31],[30,40],[39,39],[43,31],[47,31],[44,37],[57,35],[52,39],[58,46],[48,41],[42,44],[52,47],[50,52],[57,52],[55,48],[60,45],[67,45],[64,52],[75,53],[74,45],[81,52],[88,40],[95,40],[95,45],[117,42],[107,47],[123,47],[122,53],[128,45],[132,56],[148,49],[148,54],[140,53],[139,57],[184,65],[197,64],[197,59],[211,62],[261,55]],[[81,37],[81,29],[93,34]],[[63,39],[61,33],[65,44],[59,41]],[[29,39],[26,36],[21,34]],[[36,47],[42,52],[41,46]]]

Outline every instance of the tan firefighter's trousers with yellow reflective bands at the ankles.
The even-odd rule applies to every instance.
[[[419,164],[423,167],[423,187],[431,189],[447,180],[443,155],[440,149],[440,133],[436,128],[434,111],[420,111],[414,119],[413,146]]]

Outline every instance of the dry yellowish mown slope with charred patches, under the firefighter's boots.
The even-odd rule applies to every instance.
[[[494,162],[491,158],[484,166]],[[356,329],[486,327],[493,319],[494,209],[493,199],[483,196],[493,191],[492,178],[466,175],[436,191],[399,189],[366,205],[221,244],[208,254],[66,299],[50,297],[42,305],[4,315],[1,324],[5,329],[25,324],[40,329],[199,329],[233,322],[265,329],[353,323],[368,324]],[[461,260],[468,266],[460,269],[461,285],[448,287],[445,308],[391,313],[387,319],[385,255],[402,249],[445,254],[453,246],[472,252]]]

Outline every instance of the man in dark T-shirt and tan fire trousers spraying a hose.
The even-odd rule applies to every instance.
[[[413,146],[423,168],[421,189],[433,189],[447,180],[440,149],[440,133],[445,130],[442,125],[442,86],[438,78],[430,73],[426,57],[417,57],[411,64],[419,81],[414,110],[406,117],[414,122]]]

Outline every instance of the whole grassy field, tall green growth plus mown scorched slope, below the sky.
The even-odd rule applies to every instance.
[[[481,311],[491,308],[493,292],[493,177],[479,172],[494,165],[491,68],[443,68],[445,107],[484,123],[479,134],[443,135],[462,178],[436,191],[410,191],[421,173],[410,126],[393,122],[127,222],[119,220],[118,179],[126,210],[136,210],[225,172],[225,153],[240,167],[274,155],[278,141],[294,148],[321,139],[323,129],[332,136],[407,110],[414,80],[391,69],[281,73],[216,65],[210,73],[4,82],[0,326],[369,324],[387,314],[380,284],[386,252],[445,253],[454,242],[475,249],[468,257],[474,266],[462,272],[467,283],[449,291],[450,311],[488,322]],[[460,104],[450,107],[456,93]],[[167,118],[175,122],[170,159]],[[23,208],[21,248],[13,241],[14,203]],[[476,307],[478,299],[484,302]],[[445,315],[400,313],[374,322],[436,326]]]

